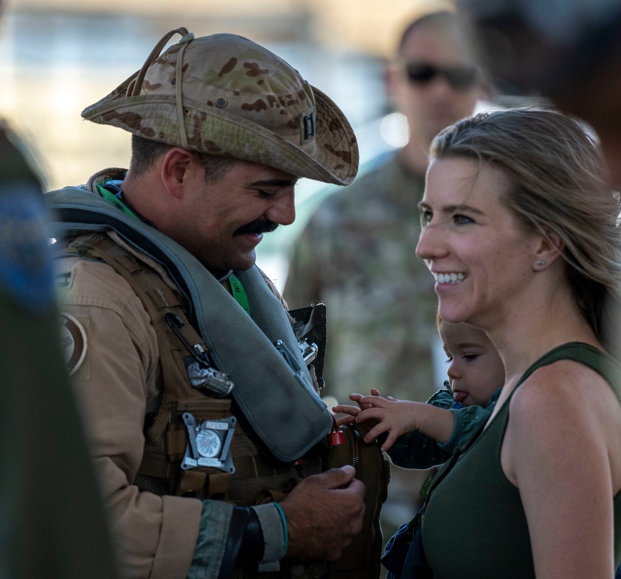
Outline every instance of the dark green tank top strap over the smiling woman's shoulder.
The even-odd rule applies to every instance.
[[[535,370],[547,366],[559,360],[573,360],[578,362],[591,370],[595,370],[605,381],[607,381],[614,390],[615,395],[621,402],[621,365],[609,354],[602,352],[602,350],[590,344],[584,344],[584,342],[568,342],[556,347],[550,352],[544,354],[537,362],[533,363],[520,378],[509,398],[511,398],[517,390],[518,386],[522,384],[527,378],[532,375]],[[507,400],[508,402],[508,400]],[[506,404],[505,404],[506,406]]]

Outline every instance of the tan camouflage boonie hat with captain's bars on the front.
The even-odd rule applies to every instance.
[[[174,34],[183,38],[160,55]],[[140,71],[82,117],[326,183],[348,185],[358,171],[342,111],[282,58],[233,34],[171,30]]]

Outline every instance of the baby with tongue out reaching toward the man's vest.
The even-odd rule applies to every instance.
[[[485,332],[468,324],[449,324],[438,317],[438,332],[448,356],[446,390],[426,403],[351,394],[355,406],[335,406],[333,411],[349,414],[337,421],[361,423],[368,434],[365,442],[377,438],[381,449],[402,468],[430,468],[446,462],[453,451],[468,442],[489,419],[504,384],[502,360]],[[424,498],[431,477],[420,491]],[[386,545],[382,563],[388,579],[432,577],[420,540],[421,513],[403,525]]]

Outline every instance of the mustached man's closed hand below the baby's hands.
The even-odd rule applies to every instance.
[[[355,473],[347,466],[309,476],[280,503],[289,529],[287,557],[334,561],[362,531],[365,485]]]

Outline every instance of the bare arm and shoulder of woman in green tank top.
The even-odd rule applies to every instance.
[[[613,577],[621,408],[612,388],[563,360],[533,373],[510,404],[501,464],[520,490],[537,578]]]

